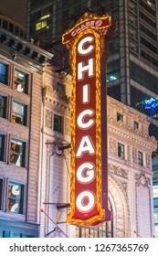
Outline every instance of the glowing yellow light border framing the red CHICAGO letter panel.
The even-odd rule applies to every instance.
[[[76,131],[76,82],[77,82],[77,63],[76,63],[76,48],[80,37],[87,34],[92,34],[96,40],[96,206],[99,211],[98,216],[90,219],[73,219],[75,213],[75,131]],[[105,210],[101,207],[101,148],[100,148],[100,58],[101,58],[101,36],[98,32],[91,28],[84,29],[75,38],[72,48],[70,49],[70,65],[72,69],[72,100],[71,100],[71,198],[70,198],[70,212],[68,214],[68,223],[77,225],[91,226],[92,223],[105,219]]]

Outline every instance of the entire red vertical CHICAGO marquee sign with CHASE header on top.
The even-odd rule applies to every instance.
[[[101,112],[107,111],[106,61],[114,29],[111,16],[85,13],[62,37],[72,69],[69,224],[95,226],[111,218],[107,203],[107,121]]]

